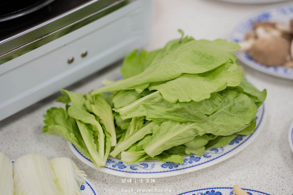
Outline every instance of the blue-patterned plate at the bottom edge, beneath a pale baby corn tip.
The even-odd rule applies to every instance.
[[[253,190],[253,189],[243,189],[249,195],[270,195],[265,192]],[[194,190],[188,190],[174,195],[235,195],[233,187],[209,187],[200,188]]]

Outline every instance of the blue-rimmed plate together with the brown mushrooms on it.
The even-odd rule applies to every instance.
[[[261,72],[293,80],[293,3],[261,9],[238,22],[229,41],[239,61]]]

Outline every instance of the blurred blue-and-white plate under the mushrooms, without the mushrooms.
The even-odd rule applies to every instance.
[[[230,33],[229,41],[241,42],[245,40],[245,34],[253,29],[254,22],[271,21],[283,22],[289,25],[293,19],[293,3],[277,4],[257,11],[235,25]],[[261,72],[277,77],[293,79],[293,68],[283,66],[265,66],[255,62],[244,52],[235,52],[237,58],[246,65]]]

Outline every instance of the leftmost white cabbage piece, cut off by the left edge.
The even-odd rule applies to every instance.
[[[13,165],[2,152],[0,152],[0,191],[0,194],[13,195]]]

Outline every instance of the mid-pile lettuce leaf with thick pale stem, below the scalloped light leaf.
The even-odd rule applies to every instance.
[[[207,120],[207,115],[211,115],[219,109],[223,102],[222,96],[213,93],[209,99],[200,102],[171,103],[164,99],[160,92],[156,91],[134,101],[128,106],[113,110],[118,112],[122,119],[146,116],[151,120],[171,119],[180,122],[197,122]]]

